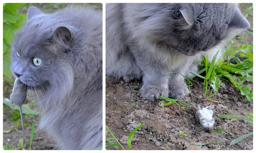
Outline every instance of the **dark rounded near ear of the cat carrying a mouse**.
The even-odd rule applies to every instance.
[[[73,41],[72,33],[71,31],[64,26],[57,27],[56,30],[53,32],[54,38],[59,38],[62,42],[64,42],[67,45],[70,45]]]

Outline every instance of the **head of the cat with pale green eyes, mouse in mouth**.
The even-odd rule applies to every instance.
[[[33,15],[38,15],[35,11],[40,11],[35,9],[28,10],[28,22],[17,33],[11,53],[11,70],[31,89],[61,87],[63,82],[72,82],[73,78],[72,34],[63,26],[42,29],[44,25],[39,25],[43,21],[39,20],[42,22],[39,24],[33,19]],[[40,12],[37,13],[42,16]]]

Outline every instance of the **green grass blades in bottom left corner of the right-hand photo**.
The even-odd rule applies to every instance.
[[[134,138],[134,134],[136,131],[138,131],[140,128],[143,127],[143,124],[137,126],[133,131],[128,136],[127,139],[127,145],[128,149],[131,149],[131,142],[132,139]],[[118,150],[125,150],[125,148],[122,146],[122,144],[118,141],[118,139],[114,136],[114,134],[110,131],[109,127],[106,126],[106,134],[109,132],[111,134],[112,138],[106,137],[106,148],[117,148]]]

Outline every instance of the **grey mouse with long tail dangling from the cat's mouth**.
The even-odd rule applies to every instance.
[[[19,113],[21,117],[21,124],[22,124],[22,137],[23,137],[23,145],[25,143],[25,135],[24,135],[24,122],[23,122],[23,115],[21,106],[25,102],[28,93],[28,86],[23,84],[19,78],[15,79],[14,87],[12,89],[12,93],[10,99],[6,99],[13,104],[16,104],[19,107]]]

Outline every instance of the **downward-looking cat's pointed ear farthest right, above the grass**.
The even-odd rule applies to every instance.
[[[242,16],[242,14],[240,14],[238,11],[234,14],[229,23],[229,27],[234,27],[237,29],[246,29],[249,26],[250,24],[247,19],[245,19],[245,17]]]

